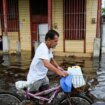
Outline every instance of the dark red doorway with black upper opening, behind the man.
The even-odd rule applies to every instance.
[[[34,53],[35,42],[39,40],[38,25],[48,23],[48,0],[30,0],[31,48]]]

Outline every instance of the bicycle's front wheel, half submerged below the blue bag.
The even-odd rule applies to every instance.
[[[70,96],[68,94],[57,98],[53,105],[92,105],[92,101],[84,95]]]

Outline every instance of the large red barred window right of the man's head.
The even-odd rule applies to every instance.
[[[84,40],[86,0],[64,0],[65,40]]]

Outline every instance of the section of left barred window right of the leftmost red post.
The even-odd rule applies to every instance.
[[[18,0],[7,0],[8,31],[18,31]]]

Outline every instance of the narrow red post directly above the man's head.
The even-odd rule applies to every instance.
[[[52,0],[48,0],[48,29],[52,28]]]

